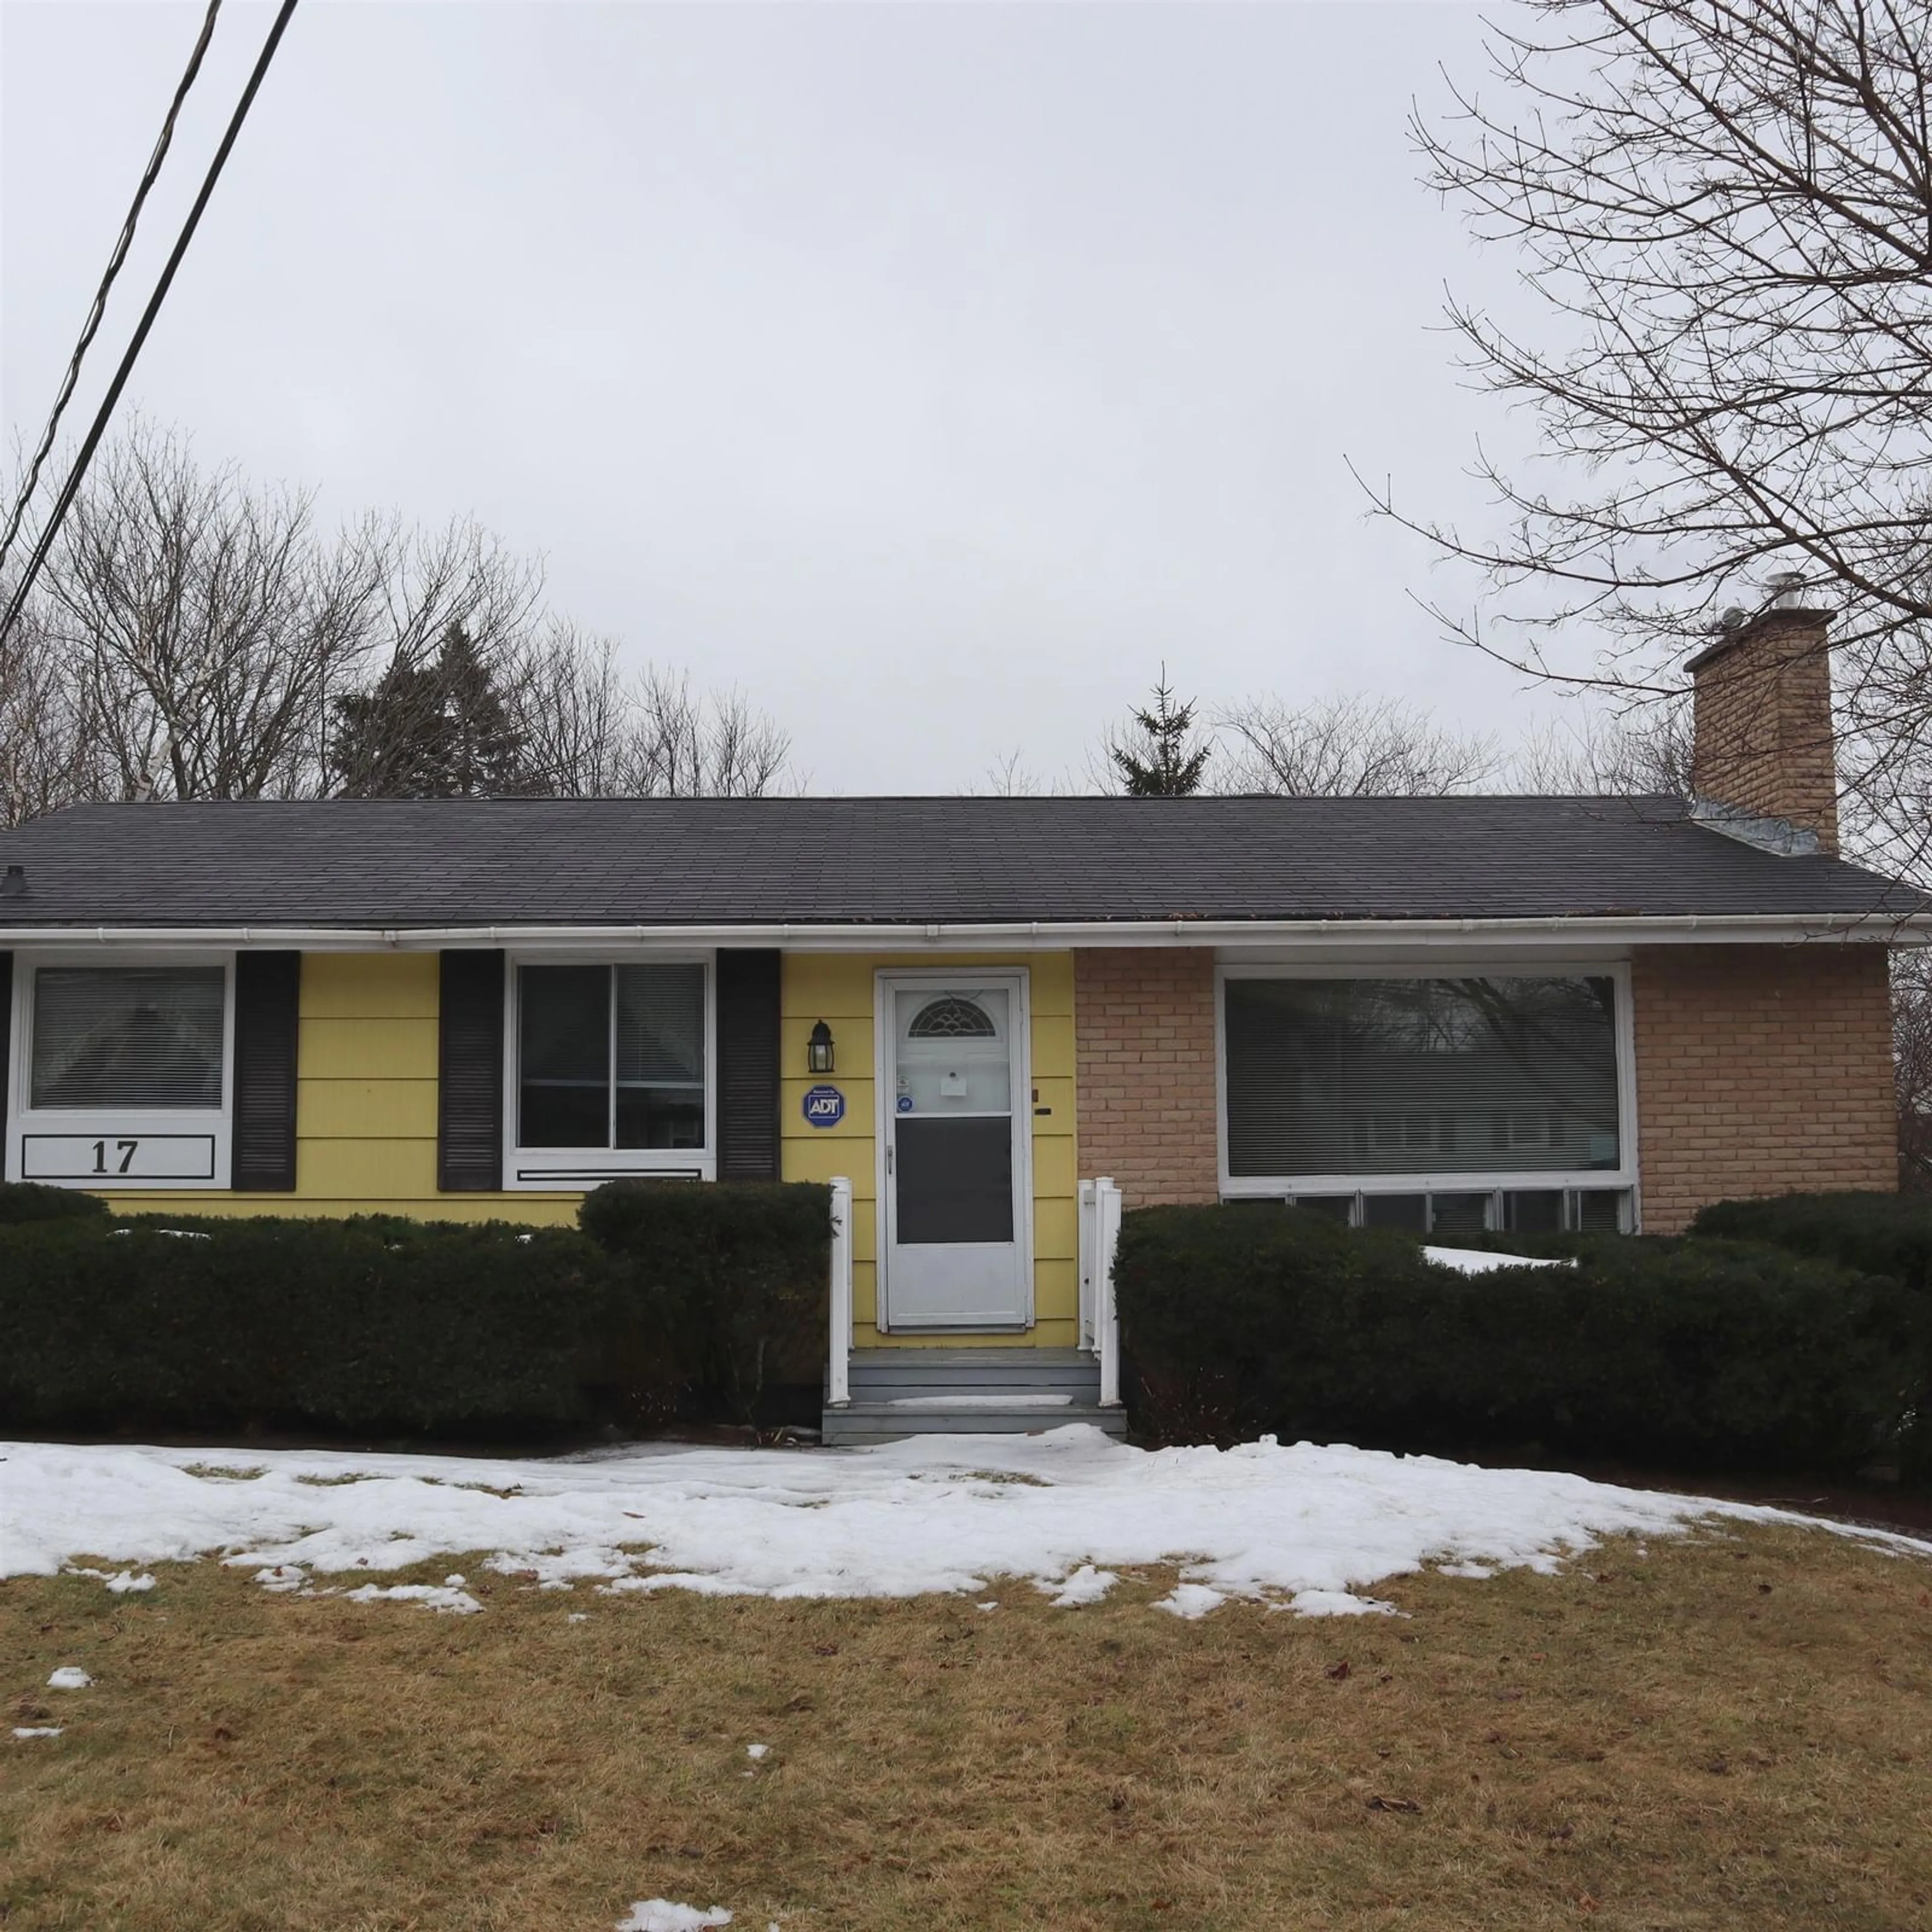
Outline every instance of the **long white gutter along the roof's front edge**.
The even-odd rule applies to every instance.
[[[1671,914],[1663,918],[1536,920],[1014,920],[920,925],[0,925],[0,949],[60,947],[292,947],[303,952],[433,952],[444,947],[721,947],[798,952],[1065,947],[1360,947],[1399,943],[1466,949],[1476,939],[1520,945],[1797,945],[1812,939],[1932,945],[1932,912]]]

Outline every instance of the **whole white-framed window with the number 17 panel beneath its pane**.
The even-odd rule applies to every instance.
[[[6,1179],[226,1188],[234,954],[14,956]]]

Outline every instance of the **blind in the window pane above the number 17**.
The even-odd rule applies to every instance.
[[[43,966],[35,1107],[220,1107],[220,966]]]

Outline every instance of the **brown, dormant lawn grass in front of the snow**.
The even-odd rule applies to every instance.
[[[0,1584],[10,1721],[68,1725],[0,1739],[6,1932],[1932,1924],[1932,1565],[1820,1532],[1403,1621],[158,1578]]]

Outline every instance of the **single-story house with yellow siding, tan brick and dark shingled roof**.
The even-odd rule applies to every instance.
[[[6,1179],[568,1221],[844,1177],[854,1362],[962,1405],[1092,1393],[1101,1177],[1445,1236],[1888,1188],[1932,906],[1837,858],[1824,639],[1694,661],[1692,800],[75,806],[0,837]]]

